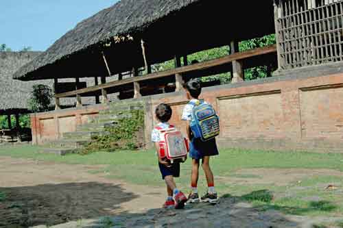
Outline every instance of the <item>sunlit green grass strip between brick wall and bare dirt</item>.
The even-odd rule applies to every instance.
[[[64,164],[105,165],[91,170],[91,173],[104,173],[108,178],[123,179],[128,183],[145,186],[164,186],[158,171],[154,151],[120,151],[115,153],[91,153],[89,155],[49,155],[37,153],[39,147],[6,147],[0,149],[1,155],[25,157]],[[343,177],[314,176],[287,183],[286,186],[266,185],[255,173],[239,174],[244,168],[327,168],[343,171],[343,154],[295,153],[274,151],[246,151],[226,149],[220,156],[211,159],[211,168],[216,180],[216,189],[224,197],[235,197],[252,203],[259,210],[279,210],[286,214],[309,216],[339,216],[343,214]],[[191,164],[182,164],[181,177],[176,180],[179,188],[189,188]],[[199,188],[206,190],[206,180],[200,171]],[[244,181],[229,182],[230,178],[254,179],[255,184]],[[281,177],[282,178],[282,177]],[[324,186],[335,183],[338,190],[325,190]],[[318,200],[312,200],[312,198]]]

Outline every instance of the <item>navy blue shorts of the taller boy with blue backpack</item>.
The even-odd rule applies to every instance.
[[[217,149],[217,144],[215,143],[215,138],[206,142],[202,142],[200,138],[193,138],[191,140],[189,157],[199,160],[204,156],[215,156],[218,154],[219,151]]]

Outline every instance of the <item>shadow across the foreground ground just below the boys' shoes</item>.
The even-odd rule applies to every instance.
[[[272,201],[268,190],[251,192],[242,197],[226,194],[217,205],[198,203],[186,205],[185,210],[153,209],[144,214],[121,212],[117,216],[102,217],[93,221],[79,221],[58,225],[67,227],[303,227],[304,220],[292,219],[276,210],[262,211],[246,201]]]

